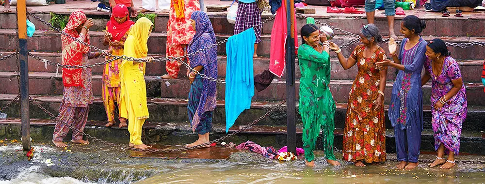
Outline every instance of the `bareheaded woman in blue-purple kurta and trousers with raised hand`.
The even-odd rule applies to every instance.
[[[389,52],[394,62],[378,62],[381,67],[399,69],[392,86],[389,119],[394,127],[396,153],[399,169],[414,169],[418,166],[421,131],[423,126],[421,71],[425,61],[426,41],[420,37],[426,23],[417,16],[403,19],[400,32],[404,35],[399,54],[393,39],[389,42]]]

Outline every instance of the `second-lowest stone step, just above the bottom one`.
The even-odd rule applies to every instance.
[[[15,94],[0,94],[0,107],[4,107],[7,103],[16,97]],[[59,113],[59,106],[62,96],[38,96],[32,95],[37,99],[42,107],[47,108],[50,112],[57,115]],[[187,117],[187,100],[175,98],[148,98],[148,110],[150,118],[147,122],[188,122]],[[278,105],[279,102],[268,101],[253,101],[251,108],[243,111],[236,120],[234,126],[247,125],[258,119],[260,116],[268,112],[272,107]],[[296,103],[298,105],[298,102]],[[7,113],[8,118],[20,118],[18,103],[12,104],[4,112]],[[96,97],[93,105],[89,107],[89,120],[93,121],[107,121],[106,112],[103,107],[101,97]],[[385,107],[386,115],[388,107]],[[338,103],[335,111],[335,127],[343,129],[345,123],[345,116],[347,111],[347,104]],[[35,105],[30,105],[30,113],[32,119],[49,119],[49,116]],[[226,109],[224,100],[217,101],[217,108],[214,110],[213,122],[214,124],[226,123]],[[424,129],[432,129],[431,127],[431,107],[429,105],[423,106]],[[286,126],[286,107],[283,106],[274,111],[273,114],[261,120],[258,125],[269,126]],[[463,130],[469,131],[485,131],[483,120],[485,119],[484,106],[469,106],[467,119],[463,123]],[[296,114],[296,123],[298,126],[302,125],[301,117]],[[392,129],[391,123],[386,116],[386,127]]]

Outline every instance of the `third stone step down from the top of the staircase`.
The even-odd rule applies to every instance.
[[[8,55],[13,52],[1,52],[0,54]],[[62,55],[60,53],[44,53],[44,52],[31,52],[35,56],[39,56],[41,58],[47,59],[49,61],[62,63]],[[162,55],[151,55],[154,58],[164,57]],[[218,57],[218,73],[220,78],[226,77],[226,56],[219,56]],[[45,65],[45,63],[37,61],[32,57],[29,57],[29,71],[30,72],[56,72],[57,67],[55,65]],[[99,63],[103,62],[104,58],[99,57],[97,59],[90,60],[90,63]],[[332,73],[331,78],[337,80],[354,80],[357,75],[357,67],[354,66],[349,70],[344,70],[340,65],[338,59],[332,58],[330,60],[332,62]],[[296,73],[296,80],[300,78],[300,67],[298,66],[298,59],[295,61],[295,73]],[[459,60],[458,64],[460,65],[460,69],[462,71],[462,78],[465,82],[481,82],[481,74],[483,60]],[[4,61],[4,66],[0,68],[0,71],[16,71],[16,58],[12,57]],[[268,69],[269,66],[269,58],[259,57],[254,59],[254,75],[260,74],[265,69]],[[185,77],[184,75],[187,73],[187,69],[185,67],[180,67],[179,77]],[[93,74],[101,75],[103,74],[103,66],[98,66],[92,68]],[[153,75],[153,76],[162,76],[166,74],[165,70],[165,62],[154,62],[150,63],[146,68],[146,75]],[[286,80],[285,75],[280,78],[280,80]],[[388,81],[394,81],[396,78],[396,69],[389,67],[388,68]]]

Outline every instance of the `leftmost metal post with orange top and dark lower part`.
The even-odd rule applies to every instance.
[[[22,119],[22,147],[30,151],[30,117],[29,117],[29,63],[27,56],[27,9],[25,0],[17,0],[18,61],[20,65],[20,114]]]

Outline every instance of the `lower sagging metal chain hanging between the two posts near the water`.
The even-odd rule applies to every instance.
[[[189,148],[178,148],[178,149],[170,149],[170,150],[163,150],[163,149],[142,150],[142,149],[131,148],[131,147],[126,147],[126,146],[114,144],[112,142],[108,142],[108,141],[105,141],[105,140],[96,138],[94,136],[91,136],[89,134],[86,134],[83,131],[78,130],[74,126],[72,126],[72,125],[70,125],[68,123],[65,123],[64,121],[60,120],[57,116],[55,116],[54,114],[52,114],[51,112],[49,112],[49,110],[47,110],[46,108],[42,107],[39,103],[37,103],[37,101],[35,99],[33,99],[31,96],[29,96],[29,98],[30,98],[30,101],[32,102],[32,104],[34,104],[37,107],[39,107],[40,109],[42,109],[51,118],[53,118],[57,122],[63,123],[65,126],[67,126],[72,131],[76,131],[76,132],[81,133],[82,135],[86,136],[87,138],[90,138],[92,140],[99,141],[99,142],[104,143],[106,145],[109,145],[109,146],[112,146],[112,147],[117,147],[117,148],[120,148],[120,149],[125,149],[125,150],[130,150],[130,151],[136,151],[136,152],[147,152],[147,153],[172,153],[172,152],[181,152],[181,151],[187,151],[187,150],[193,150],[193,149],[197,149],[197,148],[202,148],[202,147],[208,146],[208,145],[210,145],[212,143],[220,142],[221,140],[224,140],[226,138],[230,138],[230,137],[232,137],[232,136],[234,136],[234,135],[236,135],[236,134],[238,134],[238,133],[240,133],[240,132],[242,132],[242,131],[244,131],[246,129],[251,128],[253,125],[255,125],[256,123],[258,123],[262,119],[268,117],[273,111],[275,111],[277,108],[281,107],[283,104],[286,103],[286,100],[281,101],[281,103],[279,103],[278,105],[276,105],[275,107],[273,107],[270,111],[266,112],[266,114],[264,114],[263,116],[259,117],[257,120],[253,121],[252,123],[249,123],[246,127],[242,128],[242,129],[239,129],[238,131],[235,131],[235,132],[233,132],[231,134],[228,134],[228,135],[226,135],[224,137],[221,137],[221,138],[212,140],[212,141],[210,141],[208,143],[200,144],[200,145],[197,145],[197,146],[194,146],[194,147],[189,147]]]

